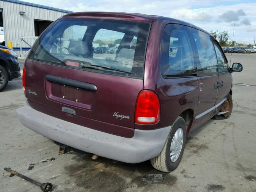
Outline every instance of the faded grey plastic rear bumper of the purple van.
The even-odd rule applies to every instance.
[[[24,126],[47,138],[127,163],[139,163],[158,156],[171,129],[171,126],[156,130],[135,129],[132,138],[124,138],[60,120],[30,106],[17,109],[16,114]]]

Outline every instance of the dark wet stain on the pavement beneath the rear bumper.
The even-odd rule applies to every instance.
[[[64,166],[66,174],[74,180],[75,186],[91,192],[105,192],[106,189],[113,192],[126,189],[139,190],[139,188],[150,190],[150,184],[142,181],[142,176],[145,174],[163,175],[163,182],[155,183],[155,187],[158,185],[172,186],[177,180],[175,175],[155,170],[149,160],[137,164],[128,164],[103,157],[91,160],[91,157],[92,154],[77,153],[72,158],[75,163]]]

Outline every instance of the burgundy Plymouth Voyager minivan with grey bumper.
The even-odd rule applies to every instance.
[[[102,51],[103,50],[103,51]],[[242,71],[210,34],[161,16],[81,12],[38,38],[23,69],[20,122],[73,148],[177,168],[188,132],[232,112]]]

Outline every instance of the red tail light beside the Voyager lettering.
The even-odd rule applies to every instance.
[[[154,124],[160,119],[160,104],[158,97],[153,91],[142,90],[139,93],[136,110],[135,123]]]

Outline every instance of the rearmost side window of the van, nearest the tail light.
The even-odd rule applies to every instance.
[[[161,72],[163,76],[190,76],[196,73],[188,27],[168,24],[164,28]]]

